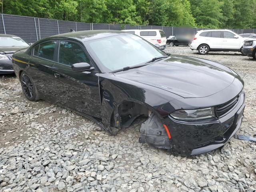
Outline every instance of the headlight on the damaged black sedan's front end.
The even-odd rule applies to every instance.
[[[174,111],[170,116],[177,120],[201,120],[215,117],[214,107],[195,109],[195,110],[178,110]]]

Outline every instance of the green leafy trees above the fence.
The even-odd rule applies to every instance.
[[[5,14],[59,20],[256,28],[256,0],[0,0],[0,7],[2,2]]]

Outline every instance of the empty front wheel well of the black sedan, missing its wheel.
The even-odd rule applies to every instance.
[[[122,130],[128,128],[139,116],[148,117],[149,112],[150,110],[143,104],[124,101],[118,106],[118,110],[113,112],[110,123],[112,127],[120,128]]]

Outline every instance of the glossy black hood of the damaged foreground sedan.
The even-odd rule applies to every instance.
[[[221,64],[176,55],[114,75],[164,89],[184,98],[215,94],[232,84],[236,77],[229,68]]]

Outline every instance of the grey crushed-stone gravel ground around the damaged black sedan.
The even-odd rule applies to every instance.
[[[233,52],[200,56],[188,47],[166,52],[207,58],[244,79],[239,134],[256,134],[256,60]],[[138,143],[140,124],[111,136],[94,122],[45,101],[30,102],[14,75],[0,76],[0,192],[253,192],[256,144],[231,140],[198,156],[174,156]]]

